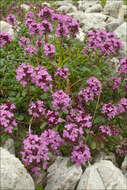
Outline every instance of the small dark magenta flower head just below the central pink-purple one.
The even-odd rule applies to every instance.
[[[57,124],[62,122],[62,119],[59,117],[59,113],[51,110],[48,110],[46,114],[46,120],[49,125],[53,126],[56,126]]]

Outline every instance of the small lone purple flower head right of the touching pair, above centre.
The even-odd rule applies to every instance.
[[[67,67],[65,68],[58,68],[57,72],[55,73],[56,76],[60,78],[66,79],[70,74],[69,74],[69,69]]]

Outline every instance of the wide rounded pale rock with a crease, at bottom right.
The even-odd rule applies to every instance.
[[[126,178],[111,161],[101,160],[88,167],[76,190],[126,190]]]

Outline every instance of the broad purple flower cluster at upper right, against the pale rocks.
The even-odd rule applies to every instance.
[[[85,49],[98,49],[102,55],[116,55],[122,49],[122,43],[115,38],[114,33],[105,30],[89,31],[87,33],[87,43],[88,46]]]

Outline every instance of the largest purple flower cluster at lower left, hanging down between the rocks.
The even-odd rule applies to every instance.
[[[52,129],[45,130],[40,137],[30,133],[23,141],[22,161],[26,166],[32,164],[30,169],[37,177],[40,171],[38,165],[40,164],[43,169],[46,169],[50,153],[59,154],[59,147],[63,144],[64,140],[59,133]]]

